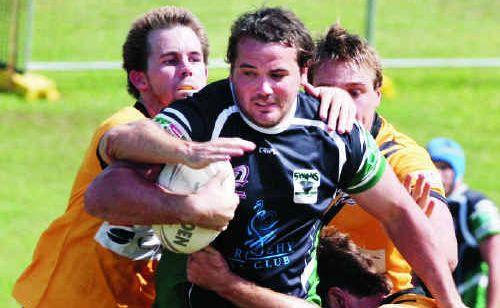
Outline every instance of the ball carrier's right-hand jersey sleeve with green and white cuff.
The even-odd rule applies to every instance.
[[[360,193],[372,188],[382,177],[387,165],[375,140],[359,124],[354,126],[350,134],[343,135],[342,139],[346,163],[340,176],[341,188],[347,193]]]

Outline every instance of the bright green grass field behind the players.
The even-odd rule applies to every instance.
[[[82,1],[83,2],[83,1]],[[33,60],[118,60],[126,29],[141,12],[165,2],[97,0],[37,2]],[[235,15],[259,3],[170,1],[196,12],[208,28],[213,56],[223,57]],[[278,3],[269,1],[267,3]],[[364,1],[281,1],[313,31],[340,17],[362,31]],[[380,1],[377,47],[384,57],[498,57],[498,1]],[[445,14],[446,12],[446,14]],[[63,19],[66,18],[66,19]],[[83,26],[82,26],[83,25]],[[50,35],[47,35],[49,34]],[[425,143],[442,135],[467,153],[467,181],[500,202],[500,71],[404,69],[386,72],[397,94],[381,112]],[[224,70],[211,71],[212,79]],[[62,93],[57,103],[26,103],[0,93],[0,307],[16,307],[12,284],[29,263],[40,233],[65,207],[72,180],[96,125],[131,104],[122,72],[46,73]],[[8,257],[7,257],[8,256]]]

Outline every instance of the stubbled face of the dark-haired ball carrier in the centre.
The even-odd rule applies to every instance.
[[[279,43],[243,38],[231,71],[241,111],[255,124],[280,123],[297,100],[304,70],[297,64],[297,50]]]

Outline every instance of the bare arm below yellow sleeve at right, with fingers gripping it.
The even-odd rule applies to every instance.
[[[415,182],[413,188],[411,187],[412,181]],[[451,271],[454,271],[458,263],[457,238],[448,206],[441,198],[432,196],[430,181],[426,180],[424,174],[419,174],[416,180],[413,180],[411,175],[407,175],[403,184],[413,200],[429,217],[439,247],[444,252]],[[437,193],[434,192],[434,194]]]

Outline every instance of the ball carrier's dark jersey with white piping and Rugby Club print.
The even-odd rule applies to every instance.
[[[316,298],[316,239],[333,196],[339,189],[357,193],[372,187],[385,168],[369,133],[358,124],[350,134],[328,132],[318,119],[318,104],[301,93],[280,124],[262,128],[240,112],[231,84],[223,80],[156,117],[181,138],[240,137],[256,144],[252,153],[231,159],[240,204],[212,245],[243,278],[309,299]],[[160,281],[169,279],[163,276],[171,274],[167,268],[174,259],[167,254],[161,262],[159,297],[168,293],[162,285],[173,287]],[[184,292],[190,305],[227,304],[197,287]]]

